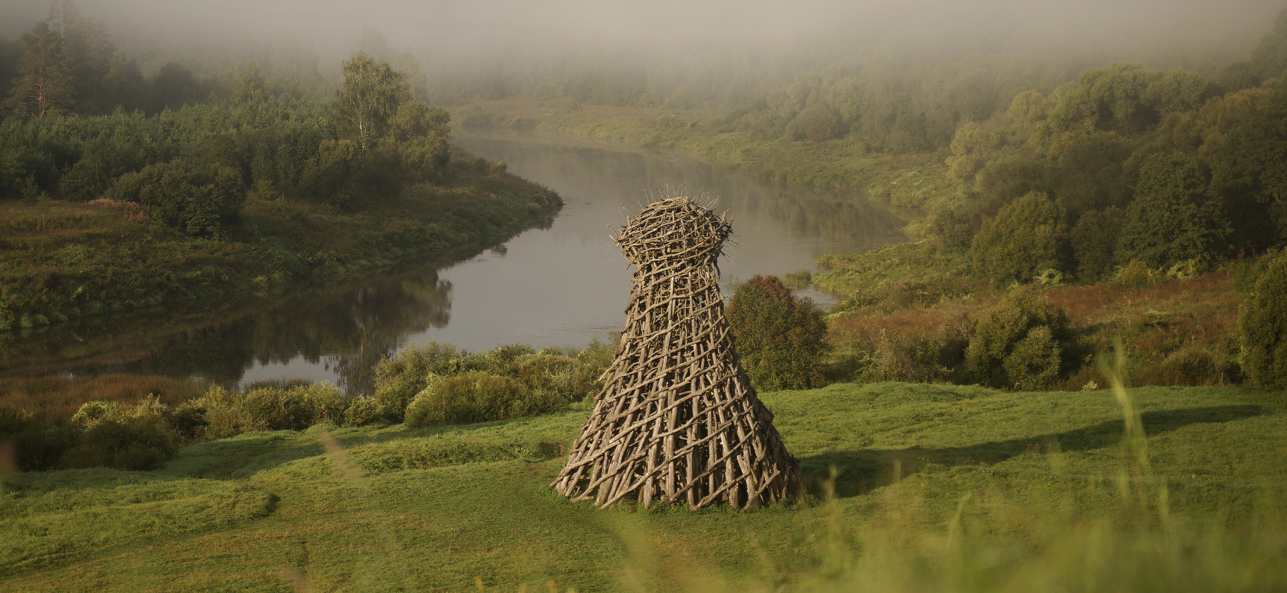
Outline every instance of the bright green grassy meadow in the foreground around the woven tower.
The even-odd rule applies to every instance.
[[[553,495],[588,404],[254,432],[188,445],[152,472],[12,473],[0,590],[1287,587],[1283,394],[1133,394],[1148,435],[1134,448],[1112,391],[764,394],[812,494],[748,512]]]

